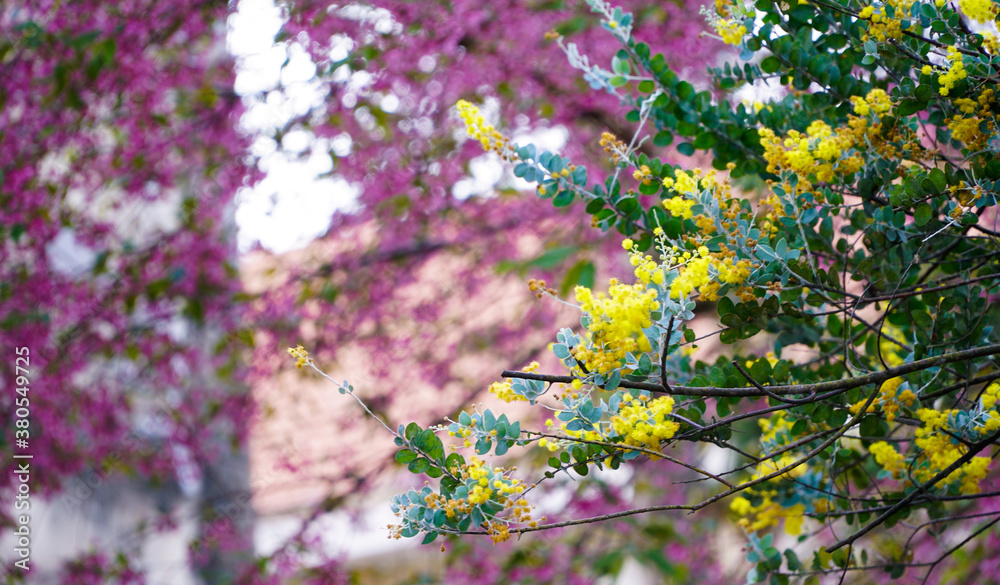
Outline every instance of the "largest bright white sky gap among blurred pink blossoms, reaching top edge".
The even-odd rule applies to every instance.
[[[229,20],[228,46],[238,59],[235,90],[263,95],[263,99],[245,98],[247,111],[241,120],[243,129],[256,135],[250,151],[265,173],[259,183],[236,196],[241,250],[257,242],[277,253],[301,248],[326,233],[334,213],[357,207],[357,190],[329,176],[331,151],[349,153],[349,137],[345,148],[340,137],[331,144],[302,129],[285,133],[280,145],[268,135],[321,108],[328,93],[301,46],[275,44],[281,25],[281,10],[273,0],[240,0]],[[334,44],[333,52],[343,59],[349,48],[342,40]],[[341,69],[346,75],[346,68]]]

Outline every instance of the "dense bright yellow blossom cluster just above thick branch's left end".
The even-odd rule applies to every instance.
[[[574,348],[574,356],[589,371],[601,374],[617,368],[625,354],[637,349],[648,351],[649,341],[642,330],[653,324],[650,313],[660,308],[656,291],[643,284],[622,284],[611,279],[608,295],[584,286],[576,287],[576,300],[590,317],[593,349]]]

